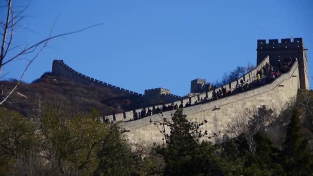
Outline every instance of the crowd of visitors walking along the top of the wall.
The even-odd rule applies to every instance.
[[[262,77],[265,76],[266,77],[266,83],[272,82],[274,79],[276,79],[277,77],[279,77],[281,74],[288,72],[289,68],[292,66],[293,62],[297,61],[297,58],[294,59],[288,59],[285,60],[284,62],[281,63],[280,68],[277,69],[279,71],[275,71],[273,66],[270,66],[269,63],[266,63],[266,65],[263,66],[262,69],[260,69],[257,74],[256,74],[256,81],[260,82]],[[236,84],[236,87],[234,90],[227,90],[226,87],[222,86],[220,89],[218,89],[217,91],[214,89],[212,92],[212,99],[209,99],[207,97],[205,98],[201,98],[200,101],[195,101],[194,104],[199,104],[199,103],[205,103],[211,100],[217,100],[223,97],[227,97],[230,96],[234,93],[241,93],[241,92],[245,92],[245,91],[249,91],[252,90],[254,88],[253,86],[253,82],[252,81],[244,81],[244,80],[240,80],[239,81],[240,84]],[[250,82],[250,83],[248,83]],[[194,105],[193,104],[193,105]],[[176,109],[181,109],[181,108],[186,108],[186,107],[190,107],[192,106],[192,104],[188,101],[186,102],[186,104],[184,105],[183,103],[181,103],[180,105],[178,104],[169,104],[169,105],[165,105],[163,104],[162,107],[153,107],[152,110],[148,108],[147,112],[146,109],[142,109],[141,112],[134,112],[134,119],[137,118],[144,118],[147,116],[150,116],[152,114],[158,114],[158,113],[162,113],[164,111],[170,111],[170,110],[176,110]]]

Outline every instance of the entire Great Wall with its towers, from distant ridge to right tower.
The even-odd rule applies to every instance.
[[[297,58],[297,60],[292,64],[287,73],[282,74],[273,82],[256,87],[250,91],[237,93],[217,100],[212,100],[214,90],[180,97],[171,95],[169,90],[158,88],[145,90],[145,95],[142,95],[82,75],[64,64],[63,60],[54,60],[53,73],[65,75],[75,81],[109,87],[116,92],[135,94],[143,97],[146,101],[148,101],[148,97],[153,97],[156,100],[166,97],[166,100],[164,100],[164,98],[162,99],[162,103],[153,104],[151,101],[148,101],[149,103],[147,104],[151,105],[147,105],[141,109],[103,116],[103,120],[121,122],[120,126],[126,130],[125,134],[130,143],[140,141],[146,143],[162,143],[164,135],[160,132],[160,129],[150,121],[158,121],[161,120],[161,118],[170,119],[171,114],[176,110],[165,111],[162,113],[162,117],[159,113],[137,119],[137,113],[141,112],[142,109],[148,111],[148,109],[161,108],[163,105],[180,105],[188,102],[191,106],[183,108],[183,113],[187,115],[187,118],[189,120],[205,119],[208,122],[201,128],[210,133],[220,132],[221,135],[224,133],[223,130],[234,118],[242,116],[242,114],[246,113],[248,110],[251,113],[255,113],[259,107],[266,105],[267,108],[271,108],[276,114],[279,114],[287,107],[290,101],[297,97],[298,89],[308,89],[307,57],[302,38],[294,38],[293,41],[290,39],[282,39],[281,43],[276,39],[269,40],[269,43],[266,43],[266,40],[258,40],[257,66],[236,81],[223,85],[227,91],[233,91],[241,80],[244,81],[244,83],[254,82],[257,72],[267,63],[277,68],[285,59],[289,58]],[[203,80],[200,81],[203,82]],[[190,91],[196,89],[196,86],[193,85],[195,82],[198,83],[198,81],[193,80],[192,89]],[[218,87],[215,90],[219,90],[220,88],[221,87]],[[202,103],[199,103],[201,101]],[[168,129],[165,129],[165,131],[168,131]]]

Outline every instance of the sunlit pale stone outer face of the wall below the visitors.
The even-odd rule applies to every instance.
[[[220,135],[224,133],[224,129],[233,118],[239,117],[247,110],[256,112],[259,107],[266,105],[267,108],[272,108],[275,113],[279,114],[297,96],[297,91],[300,88],[298,68],[299,65],[296,61],[288,73],[281,75],[270,84],[230,97],[184,108],[183,113],[187,115],[189,120],[206,119],[208,123],[202,127],[203,130],[207,130],[209,133],[218,133],[220,131]],[[214,110],[215,106],[220,109]],[[163,117],[160,114],[155,114],[138,120],[123,122],[120,125],[122,128],[129,130],[125,134],[130,143],[140,141],[164,143],[164,136],[153,122],[150,123],[150,120],[157,121],[164,117],[171,118],[171,114],[174,112],[166,111],[163,112]],[[160,128],[162,130],[162,127]]]

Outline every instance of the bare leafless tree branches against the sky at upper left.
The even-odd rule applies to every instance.
[[[65,37],[74,33],[78,33],[81,31],[84,31],[86,29],[101,25],[101,24],[96,24],[96,25],[91,25],[88,27],[85,27],[83,29],[71,31],[71,32],[66,32],[66,33],[61,33],[61,34],[56,34],[53,35],[53,29],[56,24],[57,19],[54,21],[51,29],[50,29],[50,34],[48,37],[42,39],[41,41],[38,41],[33,44],[26,43],[24,47],[21,48],[21,45],[16,45],[12,46],[13,40],[14,40],[14,34],[16,31],[16,27],[21,26],[20,23],[22,22],[23,19],[25,19],[25,16],[23,13],[25,10],[28,8],[30,3],[28,3],[21,11],[15,11],[14,6],[12,6],[12,0],[6,0],[5,5],[0,6],[0,9],[6,9],[2,10],[0,13],[5,12],[4,20],[0,20],[0,26],[1,26],[1,53],[0,53],[0,74],[3,73],[2,69],[4,65],[7,65],[8,63],[11,63],[12,61],[15,61],[17,59],[21,59],[22,57],[29,56],[29,58],[26,58],[28,63],[25,66],[24,71],[22,72],[22,75],[16,83],[16,85],[13,87],[13,89],[3,97],[3,99],[0,101],[0,104],[3,104],[8,97],[14,92],[14,90],[19,86],[19,84],[22,82],[25,73],[29,66],[32,64],[32,62],[39,57],[41,52],[44,50],[44,48],[47,47],[47,44],[50,40],[60,38],[60,37]]]

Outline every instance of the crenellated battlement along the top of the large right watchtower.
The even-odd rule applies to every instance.
[[[303,49],[304,44],[302,38],[281,39],[279,43],[278,39],[270,39],[268,43],[266,40],[257,40],[257,50],[275,50],[275,49]]]

